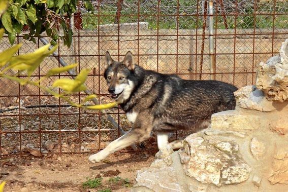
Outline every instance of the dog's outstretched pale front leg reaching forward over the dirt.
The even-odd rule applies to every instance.
[[[109,143],[103,150],[98,153],[91,155],[89,161],[92,163],[97,163],[118,150],[121,150],[131,144],[142,142],[150,137],[150,131],[143,133],[141,129],[132,129],[123,136]]]

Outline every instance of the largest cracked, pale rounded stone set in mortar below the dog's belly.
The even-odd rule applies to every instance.
[[[239,146],[232,142],[210,141],[190,135],[179,153],[186,175],[216,186],[240,183],[248,179],[250,167],[242,160]],[[186,153],[186,154],[185,154]],[[187,156],[190,157],[187,162]]]

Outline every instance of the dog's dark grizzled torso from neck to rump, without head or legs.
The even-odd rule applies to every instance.
[[[233,92],[237,88],[233,85],[182,80],[177,75],[161,74],[139,66],[135,71],[141,74],[142,84],[122,107],[126,112],[148,109],[155,131],[199,129],[201,124],[210,121],[213,113],[235,108]]]

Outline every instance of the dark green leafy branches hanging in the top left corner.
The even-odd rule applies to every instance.
[[[70,47],[73,32],[67,20],[76,11],[77,2],[77,0],[2,0],[2,7],[8,8],[2,15],[0,28],[5,28],[11,45],[15,41],[16,34],[26,25],[30,30],[24,34],[24,39],[36,43],[34,36],[40,36],[46,31],[54,42],[60,37],[64,44]],[[60,27],[63,29],[63,36],[58,35]]]

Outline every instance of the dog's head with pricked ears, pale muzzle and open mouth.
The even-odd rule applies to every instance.
[[[109,86],[108,91],[113,99],[118,103],[122,103],[130,97],[134,89],[134,68],[133,55],[129,51],[125,55],[123,61],[114,61],[109,52],[105,56],[105,72],[104,78]]]

